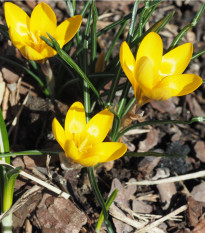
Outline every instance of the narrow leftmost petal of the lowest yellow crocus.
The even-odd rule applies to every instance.
[[[54,118],[52,121],[52,131],[56,141],[64,149],[66,142],[65,132],[56,118]]]

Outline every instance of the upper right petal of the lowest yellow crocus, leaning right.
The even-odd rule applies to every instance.
[[[97,113],[86,125],[81,134],[81,146],[84,150],[91,145],[102,142],[107,136],[113,122],[113,113],[105,109]]]

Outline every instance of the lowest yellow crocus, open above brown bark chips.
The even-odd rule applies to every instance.
[[[116,160],[127,151],[123,143],[103,142],[112,122],[113,113],[105,109],[86,124],[84,106],[75,102],[67,112],[65,129],[54,118],[52,131],[69,160],[90,167]]]

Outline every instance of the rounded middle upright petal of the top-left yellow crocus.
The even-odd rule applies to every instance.
[[[46,32],[54,35],[56,25],[56,15],[49,5],[42,2],[33,9],[30,21],[30,32],[34,34],[37,40],[40,40],[40,36],[47,37]]]

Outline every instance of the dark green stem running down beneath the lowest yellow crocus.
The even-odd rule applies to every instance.
[[[104,222],[105,222],[105,225],[107,227],[107,231],[108,233],[114,233],[113,229],[112,229],[112,225],[109,221],[109,215],[108,215],[108,212],[106,210],[106,206],[105,206],[105,202],[102,198],[102,195],[100,193],[100,190],[98,188],[98,184],[97,184],[97,181],[96,181],[96,177],[94,175],[94,168],[93,167],[88,167],[88,177],[89,177],[89,180],[90,180],[90,184],[92,186],[92,190],[95,194],[95,197],[97,198],[97,201],[98,203],[100,204],[102,210],[103,210],[103,215],[104,215]]]

